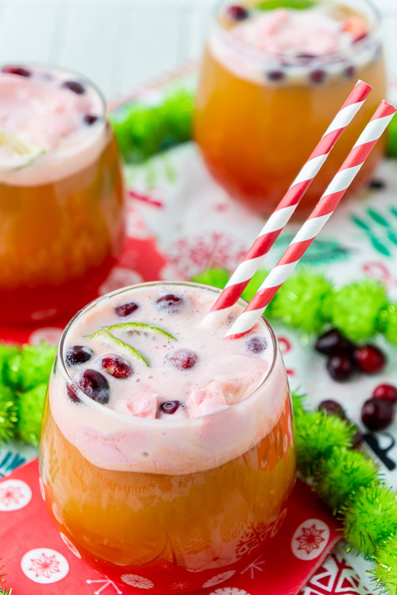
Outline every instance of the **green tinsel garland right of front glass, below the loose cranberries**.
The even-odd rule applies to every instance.
[[[379,480],[376,465],[364,452],[346,444],[354,431],[348,421],[323,411],[308,413],[301,396],[292,398],[299,471],[342,519],[347,549],[373,560],[373,580],[396,595],[396,492]]]

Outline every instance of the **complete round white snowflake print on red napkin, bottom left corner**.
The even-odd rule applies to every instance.
[[[21,569],[34,583],[49,584],[62,580],[69,572],[69,565],[59,552],[41,547],[23,556]]]

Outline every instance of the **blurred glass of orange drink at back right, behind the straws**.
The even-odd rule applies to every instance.
[[[210,30],[196,101],[195,139],[215,180],[254,211],[271,214],[355,82],[362,79],[373,86],[298,206],[297,212],[307,215],[385,96],[379,14],[368,0],[292,0],[286,2],[288,7],[310,8],[290,13],[277,8],[278,21],[274,16],[270,26],[260,20],[276,13],[258,10],[266,0],[243,2],[232,9],[230,4],[221,3]],[[288,14],[295,14],[305,27],[304,32],[298,28],[298,33],[289,35],[300,35],[297,47],[310,47],[311,53],[270,49],[267,36]],[[315,14],[332,16],[340,35],[350,30],[352,41],[320,55],[316,48],[322,45],[321,35],[335,32],[318,30],[317,40],[308,46],[305,36],[310,38],[311,33],[305,14],[311,19]],[[289,39],[283,39],[280,47],[288,46]],[[350,193],[367,183],[384,151],[381,139]]]

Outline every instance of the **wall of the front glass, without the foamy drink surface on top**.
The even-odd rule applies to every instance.
[[[260,326],[273,349],[267,375],[246,399],[221,411],[132,417],[82,392],[65,364],[76,325],[84,329],[96,317],[106,324],[101,311],[109,300],[147,302],[159,286],[211,292],[214,300],[218,292],[193,283],[146,283],[80,311],[61,337],[39,459],[46,505],[65,543],[123,592],[131,585],[164,595],[179,583],[185,591],[211,586],[215,576],[220,583],[258,556],[285,515],[296,452],[287,375],[264,318]],[[161,320],[164,326],[169,318]],[[149,360],[155,345],[148,340]],[[120,383],[113,386],[122,390]]]

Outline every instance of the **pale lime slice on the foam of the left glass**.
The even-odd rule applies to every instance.
[[[15,134],[0,130],[0,173],[27,167],[44,153],[44,149],[30,145]]]

